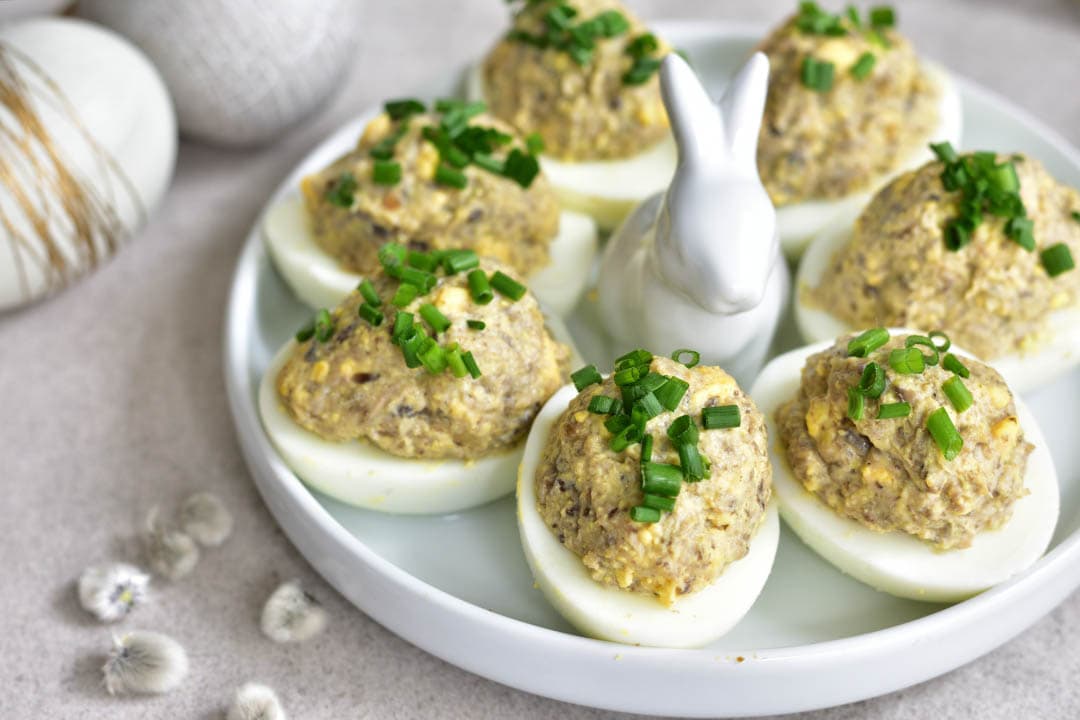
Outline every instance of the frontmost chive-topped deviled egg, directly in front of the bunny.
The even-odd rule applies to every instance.
[[[589,636],[707,644],[772,569],[765,419],[724,370],[644,350],[606,380],[572,377],[534,422],[517,484],[538,586]]]

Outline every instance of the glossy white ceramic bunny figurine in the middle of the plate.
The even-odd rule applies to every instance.
[[[664,59],[660,86],[678,167],[604,253],[600,313],[617,351],[696,350],[742,384],[765,362],[791,285],[757,175],[768,80],[769,60],[755,53],[717,109],[683,58]]]

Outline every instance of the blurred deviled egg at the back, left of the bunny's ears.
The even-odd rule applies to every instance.
[[[657,80],[667,52],[618,0],[529,0],[472,69],[469,94],[542,138],[564,206],[611,230],[675,172]]]

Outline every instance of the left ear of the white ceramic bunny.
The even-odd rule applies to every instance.
[[[660,92],[678,146],[679,164],[726,157],[724,121],[686,60],[669,53],[660,66]]]

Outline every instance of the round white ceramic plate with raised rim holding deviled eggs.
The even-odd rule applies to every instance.
[[[718,95],[764,28],[658,24]],[[448,95],[458,79],[427,89]],[[1080,154],[1055,133],[959,81],[970,148],[1021,150],[1080,186]],[[292,173],[353,145],[352,122]],[[789,531],[753,610],[704,650],[634,648],[575,635],[534,588],[512,498],[441,517],[380,515],[309,491],[272,450],[256,393],[274,350],[310,311],[270,266],[256,225],[240,257],[225,329],[229,404],[255,481],[293,543],[350,601],[407,641],[514,688],[596,707],[680,716],[751,716],[849,703],[946,673],[1001,644],[1080,585],[1080,373],[1026,397],[1057,464],[1062,516],[1049,554],[1023,575],[946,607],[901,600],[847,578]],[[583,355],[611,350],[586,300],[570,323]],[[777,350],[791,347],[789,322]]]

